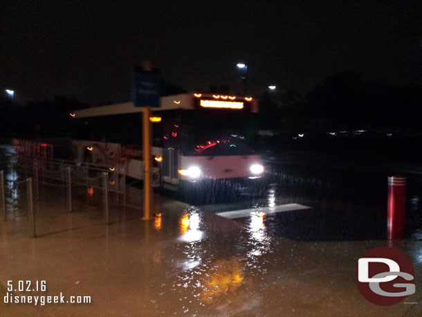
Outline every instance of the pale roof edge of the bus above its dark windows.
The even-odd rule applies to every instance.
[[[212,96],[202,94],[202,96]],[[238,98],[238,97],[237,97]],[[243,97],[239,97],[242,98]],[[171,110],[171,109],[195,109],[194,93],[181,93],[179,95],[165,96],[160,98],[160,107],[152,108],[153,111]],[[116,105],[107,105],[101,107],[92,107],[75,111],[75,118],[89,118],[96,116],[113,116],[116,114],[134,114],[142,112],[143,107],[135,107],[134,102],[124,102]],[[253,111],[255,112],[255,111]]]

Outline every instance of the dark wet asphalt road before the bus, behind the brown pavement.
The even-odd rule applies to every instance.
[[[407,238],[421,237],[422,172],[417,165],[313,152],[270,154],[264,162],[266,174],[255,183],[208,181],[176,199],[209,212],[300,203],[311,209],[273,215],[266,219],[267,228],[299,241],[385,239],[387,176],[403,174]]]

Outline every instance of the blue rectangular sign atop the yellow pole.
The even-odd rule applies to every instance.
[[[160,107],[159,73],[135,67],[132,76],[132,101],[135,107]]]

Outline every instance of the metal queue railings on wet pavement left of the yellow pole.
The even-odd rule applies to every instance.
[[[76,164],[72,161],[57,159],[41,159],[39,156],[30,157],[30,152],[21,152],[12,159],[1,161],[0,167],[11,165],[13,172],[19,172],[25,179],[6,179],[4,170],[0,170],[0,208],[2,221],[8,221],[6,204],[6,182],[12,186],[26,183],[27,209],[30,219],[30,235],[37,236],[34,206],[39,211],[39,186],[44,188],[63,188],[66,190],[66,209],[73,211],[73,191],[76,187],[86,188],[86,194],[92,194],[94,189],[102,191],[102,205],[104,208],[104,222],[109,224],[109,194],[117,196],[117,205],[126,203],[126,170],[124,166],[107,167],[91,163]],[[9,166],[10,167],[10,166]],[[121,197],[121,199],[119,199]],[[35,203],[35,205],[34,205]]]

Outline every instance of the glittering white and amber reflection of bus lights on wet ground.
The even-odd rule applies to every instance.
[[[176,275],[172,291],[183,312],[194,314],[205,306],[215,309],[226,295],[241,296],[246,291],[245,285],[250,287],[256,276],[266,273],[262,256],[271,248],[267,217],[264,212],[255,212],[247,219],[244,234],[230,241],[231,245],[246,246],[241,253],[223,251],[226,248],[223,237],[217,245],[212,245],[214,240],[205,239],[203,213],[199,208],[191,206],[179,217],[177,241],[184,242],[185,260],[181,262],[183,273]]]

